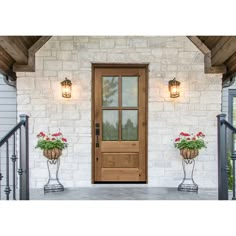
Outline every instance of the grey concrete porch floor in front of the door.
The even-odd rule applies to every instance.
[[[157,187],[81,187],[46,194],[43,189],[30,191],[30,200],[217,200],[217,197],[216,189],[192,193]]]

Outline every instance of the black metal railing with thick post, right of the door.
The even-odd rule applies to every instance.
[[[233,188],[232,188],[232,200],[236,200],[235,197],[235,161],[236,153],[233,151],[232,145],[227,145],[229,140],[228,132],[231,134],[236,133],[236,128],[225,120],[226,115],[220,114],[217,116],[217,130],[218,130],[218,199],[219,200],[228,200],[229,198],[229,185],[228,185],[228,174],[229,166],[227,153],[230,149],[231,160],[233,162]]]

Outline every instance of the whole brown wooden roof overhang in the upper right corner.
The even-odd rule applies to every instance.
[[[205,73],[222,73],[223,84],[236,75],[236,36],[188,36],[205,55]]]

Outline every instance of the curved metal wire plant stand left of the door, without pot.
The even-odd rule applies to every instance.
[[[44,185],[44,193],[64,191],[64,186],[60,183],[58,172],[60,167],[60,158],[47,161],[48,182]]]

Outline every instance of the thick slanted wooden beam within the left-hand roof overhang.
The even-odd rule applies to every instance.
[[[19,37],[0,36],[0,46],[16,61],[26,64],[28,61],[28,50]]]

